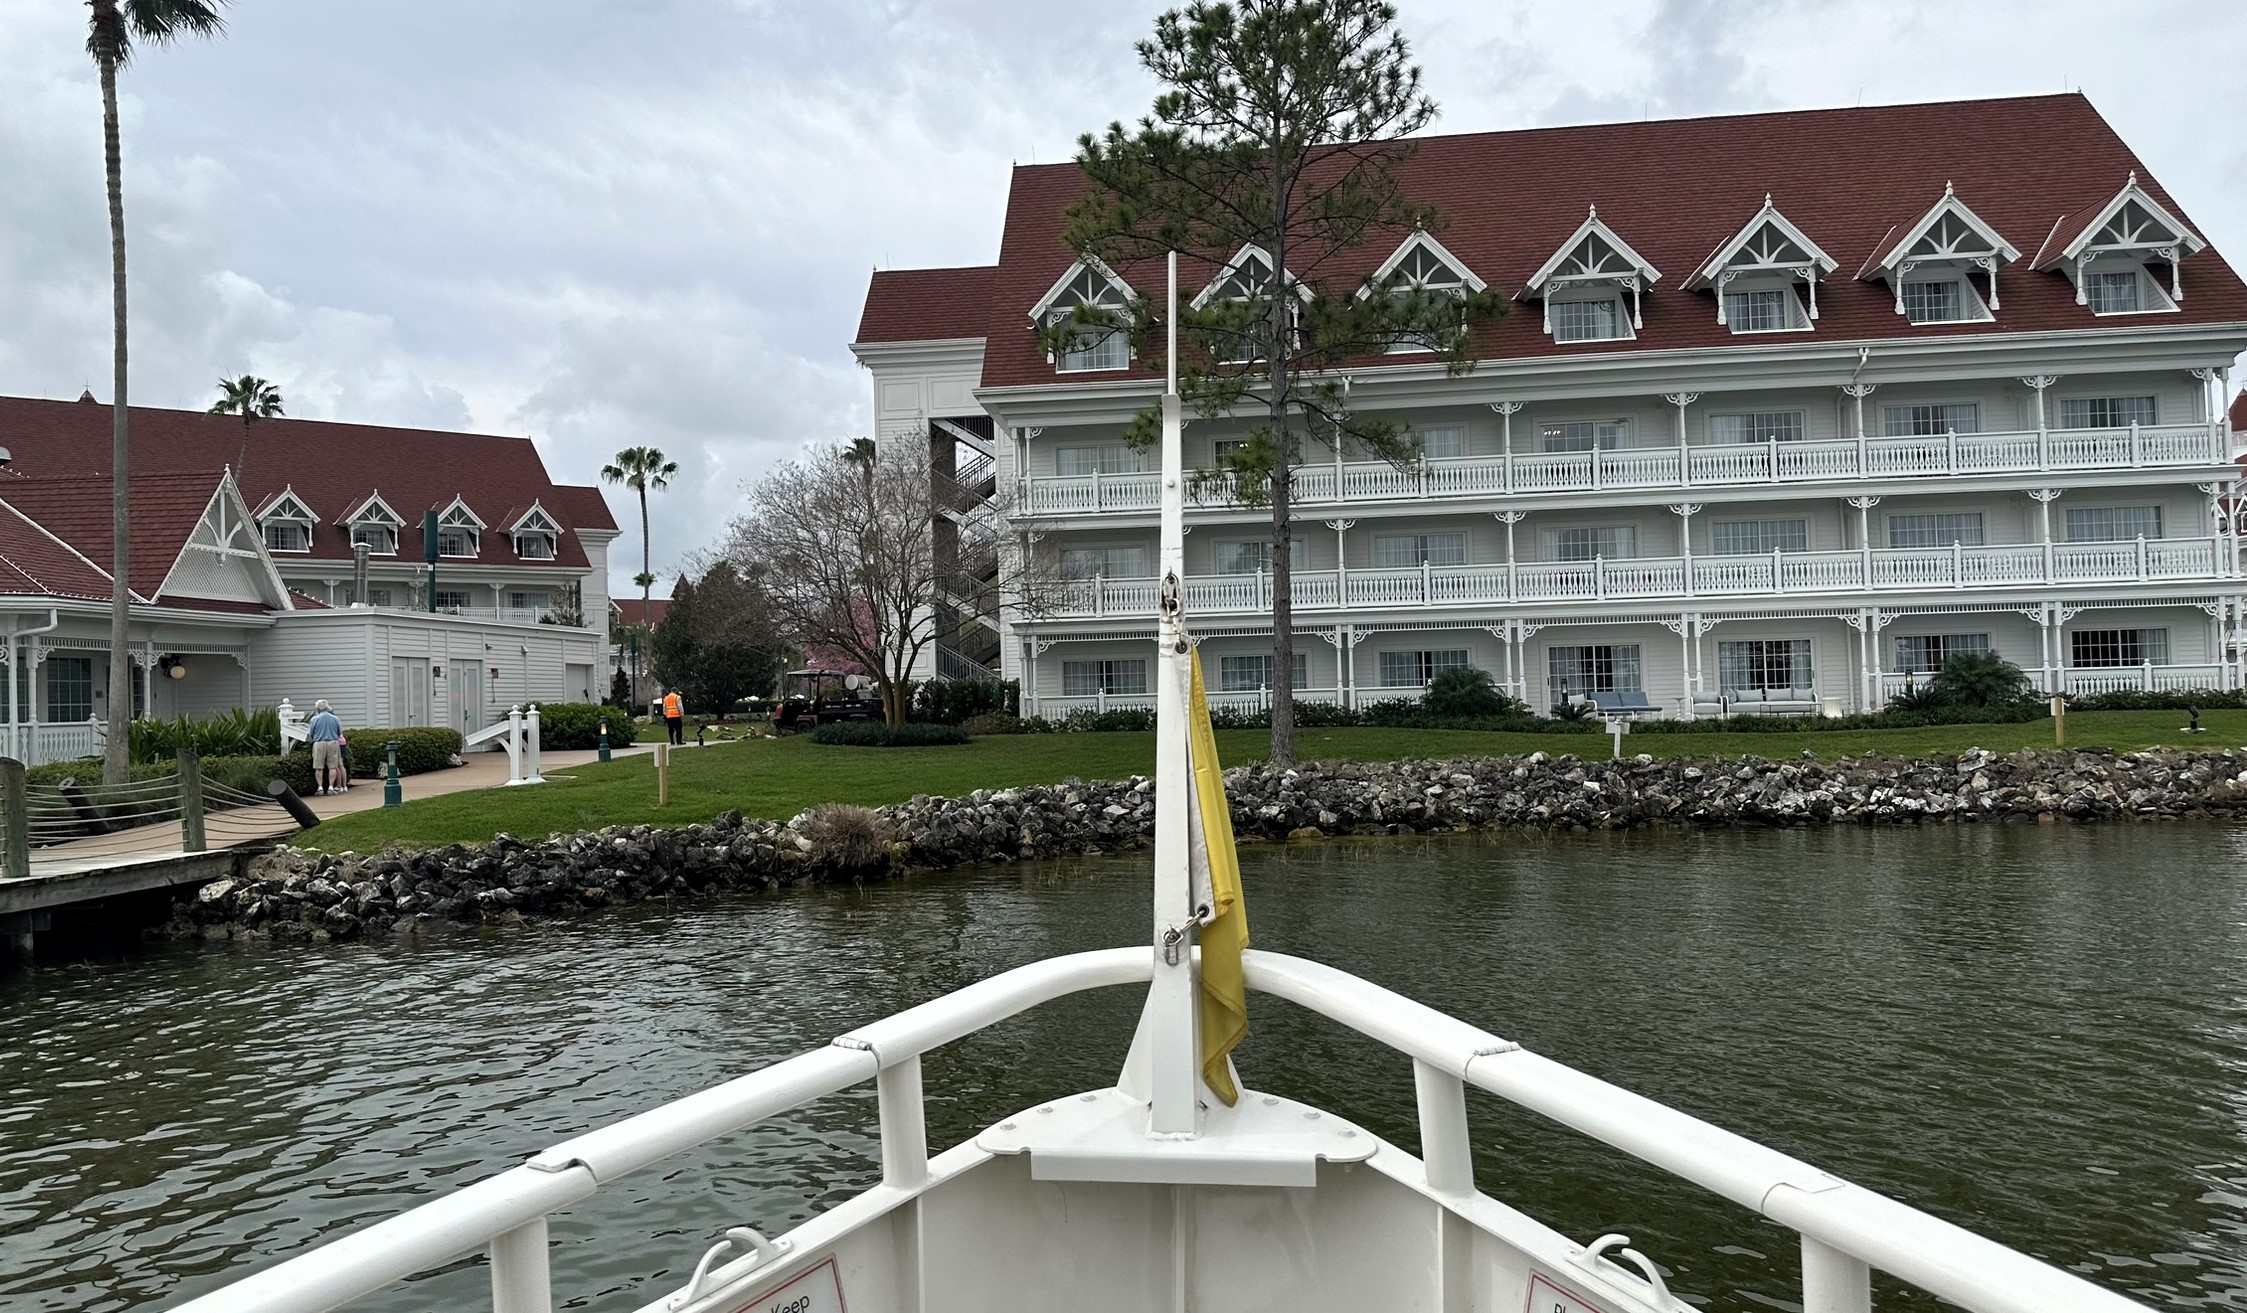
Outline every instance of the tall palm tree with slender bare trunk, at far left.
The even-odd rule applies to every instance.
[[[133,528],[133,499],[126,486],[126,184],[124,162],[117,146],[117,70],[133,63],[133,43],[169,45],[180,36],[218,36],[225,22],[218,4],[227,0],[88,0],[92,20],[85,34],[85,54],[101,70],[101,160],[108,171],[110,191],[110,346],[115,353],[117,396],[110,398],[115,416],[110,420],[110,708],[108,742],[101,751],[101,778],[110,785],[126,780],[128,744],[133,726],[133,652],[128,648],[128,621],[133,614],[133,587],[126,582],[126,537]]]

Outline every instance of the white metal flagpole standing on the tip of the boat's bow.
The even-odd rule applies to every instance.
[[[1193,764],[1186,746],[1186,459],[1177,400],[1177,252],[1168,261],[1164,313],[1168,366],[1162,389],[1162,654],[1155,681],[1155,983],[1148,987],[1150,1111],[1155,1135],[1200,1131],[1200,1043],[1193,989],[1193,879],[1186,809]]]

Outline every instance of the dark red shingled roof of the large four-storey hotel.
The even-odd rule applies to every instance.
[[[1755,216],[1766,191],[1780,214],[1843,270],[1856,270],[1894,225],[1926,214],[1946,182],[1955,182],[1957,196],[2013,247],[2034,252],[2060,216],[2096,209],[2132,169],[2153,198],[2191,223],[2099,110],[2074,92],[1427,137],[1404,166],[1404,189],[1443,211],[1449,225],[1440,232],[1443,245],[1494,290],[1521,292],[1591,205],[1661,270],[1661,281],[1645,297],[1645,328],[1636,342],[1559,344],[1541,330],[1539,308],[1519,304],[1514,315],[1483,330],[1476,348],[1483,357],[1535,357],[1753,344],[1717,324],[1710,292],[1683,292],[1679,283]],[[1061,216],[1083,187],[1074,164],[1013,171],[1000,263],[986,290],[984,387],[1058,378],[1038,348],[1029,308],[1074,261],[1061,243]],[[1346,286],[1373,272],[1393,250],[1395,241],[1368,243],[1337,256],[1328,274]],[[1200,290],[1211,268],[1207,261],[1182,261],[1182,292]],[[1159,295],[1157,261],[1119,272],[1141,292]],[[883,288],[883,279],[899,283]],[[872,337],[870,326],[888,339],[971,335],[948,313],[930,315],[919,326],[894,322],[910,306],[901,292],[912,286],[906,274],[876,274],[861,339]],[[2162,326],[2247,322],[2247,283],[2216,252],[2184,259],[2184,308],[2164,315]],[[2013,263],[2000,274],[2000,292],[1995,324],[1914,326],[1894,313],[1894,292],[1885,283],[1829,277],[1818,288],[1816,337],[1935,337],[2094,324],[2060,274]],[[1780,344],[1798,346],[1800,337],[1789,335]],[[1126,375],[1070,375],[1072,382],[1103,378]]]

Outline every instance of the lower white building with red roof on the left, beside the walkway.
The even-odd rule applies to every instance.
[[[346,724],[474,731],[510,704],[607,695],[616,519],[598,488],[553,483],[528,438],[130,420],[135,715],[324,697]],[[112,695],[110,407],[0,398],[0,744],[34,764],[92,755]]]

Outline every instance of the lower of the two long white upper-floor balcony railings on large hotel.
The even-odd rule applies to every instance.
[[[2121,585],[2231,578],[2227,537],[2137,537],[2000,546],[1773,551],[1647,560],[1422,564],[1418,569],[1294,571],[1294,609],[1456,607],[1485,603],[1611,603]],[[1272,576],[1189,576],[1186,614],[1267,614]],[[1153,618],[1155,580],[1092,578],[1040,598],[1049,618]]]

